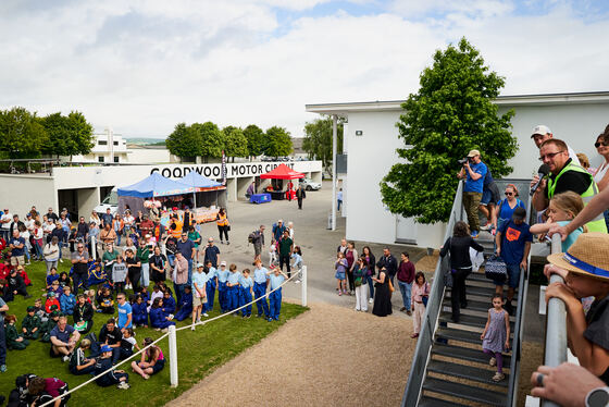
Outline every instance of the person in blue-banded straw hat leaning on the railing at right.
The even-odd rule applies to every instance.
[[[560,298],[567,308],[567,340],[580,365],[609,384],[609,235],[583,233],[567,252],[548,256],[544,273],[561,275],[546,300]],[[595,300],[584,313],[581,298]]]

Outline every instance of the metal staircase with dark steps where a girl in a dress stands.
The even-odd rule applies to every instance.
[[[527,190],[527,181],[497,181],[501,190],[506,184],[522,185]],[[451,235],[455,223],[465,220],[461,201],[462,183],[459,184],[447,236]],[[530,208],[529,197],[520,197]],[[524,199],[523,199],[524,198]],[[530,211],[527,210],[527,213]],[[485,258],[493,254],[494,236],[481,232],[478,243],[484,247]],[[432,293],[423,320],[422,330],[412,360],[402,406],[515,406],[520,350],[522,343],[523,304],[527,289],[527,273],[521,270],[519,288],[512,305],[514,316],[510,317],[510,353],[504,354],[506,379],[494,382],[490,378],[495,368],[488,365],[488,357],[482,353],[480,335],[486,323],[490,297],[495,285],[484,275],[484,269],[472,272],[465,282],[468,307],[461,309],[459,323],[451,321],[450,288],[445,288],[440,270],[446,259],[436,266]]]

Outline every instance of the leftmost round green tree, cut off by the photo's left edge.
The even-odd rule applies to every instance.
[[[36,113],[21,107],[0,111],[0,150],[10,158],[39,157],[48,140]]]

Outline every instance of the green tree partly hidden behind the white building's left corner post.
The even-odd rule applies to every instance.
[[[343,151],[343,122],[336,125],[337,151]],[[309,153],[309,159],[321,160],[324,169],[332,166],[332,118],[324,116],[304,124],[304,139],[302,149]]]

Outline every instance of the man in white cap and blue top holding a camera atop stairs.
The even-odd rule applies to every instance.
[[[478,150],[471,150],[468,157],[459,161],[463,168],[457,174],[458,178],[465,178],[463,187],[463,207],[468,213],[468,222],[472,237],[476,238],[480,233],[480,218],[477,210],[482,200],[482,192],[484,187],[484,177],[488,169],[482,162]]]

